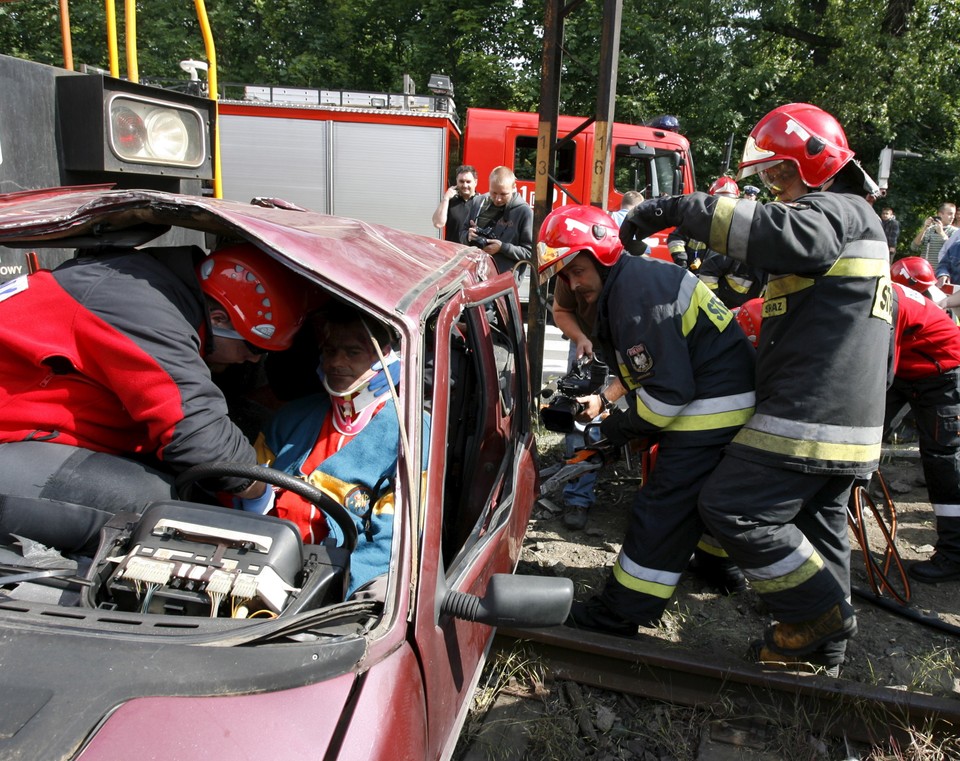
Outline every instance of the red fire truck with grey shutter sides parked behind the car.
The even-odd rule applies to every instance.
[[[494,167],[510,167],[533,204],[537,114],[469,108],[461,151],[446,95],[245,86],[220,101],[219,113],[226,198],[280,196],[436,236],[433,210],[464,163],[476,167],[481,191]],[[589,202],[593,125],[564,139],[583,121],[560,117],[554,206]],[[690,143],[682,135],[615,123],[611,157],[611,209],[628,190],[647,198],[694,190]],[[654,249],[669,258],[665,246]]]

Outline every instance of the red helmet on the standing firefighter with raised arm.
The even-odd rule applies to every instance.
[[[750,132],[737,179],[792,161],[804,185],[819,188],[852,158],[840,122],[809,103],[790,103],[773,109]]]

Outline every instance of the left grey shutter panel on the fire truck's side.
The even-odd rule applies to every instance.
[[[327,198],[328,122],[260,116],[220,117],[223,197],[282,198],[330,213]]]

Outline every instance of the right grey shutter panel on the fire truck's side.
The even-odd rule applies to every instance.
[[[333,213],[437,237],[445,131],[333,123]]]

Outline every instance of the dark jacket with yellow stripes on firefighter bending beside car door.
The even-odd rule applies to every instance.
[[[621,256],[600,294],[596,338],[628,390],[627,411],[601,425],[615,444],[652,435],[677,446],[724,444],[753,413],[753,347],[730,310],[680,267]]]

